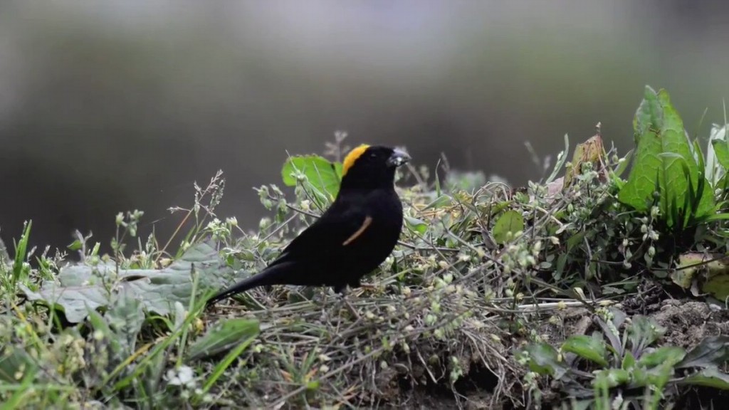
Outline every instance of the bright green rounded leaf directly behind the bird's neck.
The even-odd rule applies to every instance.
[[[289,157],[281,169],[284,185],[293,187],[298,182],[308,182],[317,193],[332,200],[339,192],[342,180],[342,164],[331,163],[319,155]]]

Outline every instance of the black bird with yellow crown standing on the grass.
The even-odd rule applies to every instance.
[[[395,169],[410,155],[389,147],[354,148],[343,160],[337,198],[313,224],[259,274],[222,290],[207,302],[267,285],[331,286],[344,294],[359,287],[392,252],[402,230]]]

